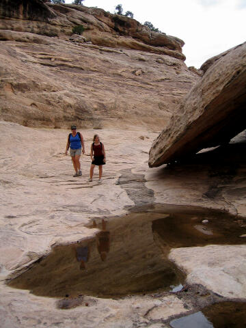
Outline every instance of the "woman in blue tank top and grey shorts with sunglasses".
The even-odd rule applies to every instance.
[[[68,149],[70,147],[70,155],[72,157],[72,164],[74,165],[75,174],[74,176],[82,176],[81,172],[81,163],[79,161],[81,156],[81,144],[82,144],[82,152],[85,154],[85,144],[83,141],[83,136],[81,133],[76,131],[76,126],[72,125],[71,130],[72,133],[68,135],[68,142],[66,146],[66,155],[68,154]]]

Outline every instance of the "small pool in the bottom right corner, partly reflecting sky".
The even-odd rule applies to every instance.
[[[222,302],[172,320],[172,328],[246,328],[246,303]]]

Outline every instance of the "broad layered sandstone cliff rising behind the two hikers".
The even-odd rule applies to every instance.
[[[1,1],[0,15],[2,120],[160,130],[200,79],[182,40],[133,18],[40,0]],[[72,36],[81,24],[83,36]]]

